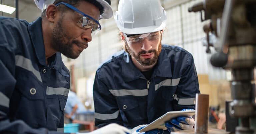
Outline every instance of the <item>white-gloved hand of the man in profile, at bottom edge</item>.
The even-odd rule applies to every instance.
[[[76,133],[76,134],[85,134],[85,133]],[[112,123],[86,134],[130,134],[130,130],[116,123]]]

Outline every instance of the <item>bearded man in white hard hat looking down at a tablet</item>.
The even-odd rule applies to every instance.
[[[120,0],[115,21],[125,45],[96,71],[95,125],[118,123],[138,131],[168,111],[195,109],[200,91],[194,60],[180,47],[161,44],[166,12],[160,1]],[[194,123],[179,117],[165,125],[176,131]]]

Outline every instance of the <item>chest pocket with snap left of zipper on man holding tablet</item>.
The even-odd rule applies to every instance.
[[[138,101],[134,96],[120,96],[116,97],[117,104],[120,110],[129,111],[138,107]]]

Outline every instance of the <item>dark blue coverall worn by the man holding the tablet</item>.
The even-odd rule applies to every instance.
[[[96,72],[95,125],[118,123],[132,129],[149,124],[168,111],[195,109],[196,93],[200,93],[196,68],[186,50],[162,45],[149,80],[122,50]]]

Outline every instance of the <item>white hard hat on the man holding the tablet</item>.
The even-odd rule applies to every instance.
[[[156,32],[166,26],[166,12],[159,0],[120,0],[114,18],[126,34]]]

